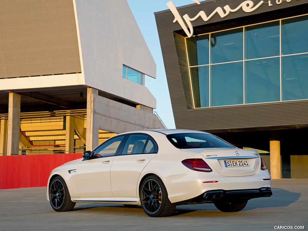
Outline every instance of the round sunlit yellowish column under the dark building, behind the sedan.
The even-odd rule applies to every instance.
[[[270,140],[270,175],[272,179],[281,179],[279,140]]]

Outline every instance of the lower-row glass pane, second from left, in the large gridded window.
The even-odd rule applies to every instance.
[[[211,66],[211,106],[244,103],[243,62]]]

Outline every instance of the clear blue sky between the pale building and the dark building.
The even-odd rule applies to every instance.
[[[169,1],[170,0],[127,0],[156,63],[156,79],[147,77],[145,79],[145,86],[148,87],[156,98],[155,111],[167,128],[170,129],[175,128],[175,124],[154,17],[154,12],[168,9],[166,4]],[[172,2],[176,7],[194,3],[193,0],[173,0]]]

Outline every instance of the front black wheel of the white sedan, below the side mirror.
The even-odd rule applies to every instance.
[[[55,177],[49,185],[49,201],[51,207],[57,212],[71,211],[76,204],[71,201],[67,185],[60,176]]]

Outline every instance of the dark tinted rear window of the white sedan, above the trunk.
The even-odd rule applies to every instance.
[[[176,148],[234,148],[208,133],[176,133],[167,135],[167,138]]]

